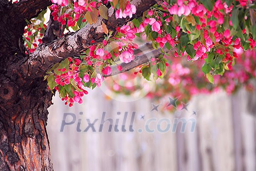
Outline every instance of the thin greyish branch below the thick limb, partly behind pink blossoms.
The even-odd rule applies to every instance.
[[[163,51],[165,53],[169,52],[169,50],[164,46]],[[155,49],[152,51],[149,51],[145,54],[136,56],[134,60],[132,60],[129,63],[121,63],[120,66],[122,67],[122,70],[119,71],[117,69],[117,66],[111,66],[111,74],[110,75],[103,75],[104,77],[107,76],[115,76],[118,75],[120,73],[124,73],[126,71],[129,71],[135,67],[138,67],[139,65],[146,63],[148,61],[150,61],[151,58],[158,58],[160,55],[162,54],[161,49]]]

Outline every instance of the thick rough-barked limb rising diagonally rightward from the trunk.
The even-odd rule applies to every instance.
[[[137,7],[137,14],[142,13],[156,3],[155,0],[133,0]],[[109,31],[116,31],[118,26],[126,24],[127,19],[116,19],[113,8],[108,10],[108,20],[98,17],[95,24],[87,24],[85,27],[75,33],[69,33],[62,38],[52,41],[49,44],[41,44],[30,55],[28,60],[23,63],[22,73],[29,77],[41,77],[55,63],[62,61],[67,57],[73,57],[84,52],[89,46],[102,42],[104,32],[102,29],[102,21],[106,22]],[[92,43],[94,40],[94,43]]]

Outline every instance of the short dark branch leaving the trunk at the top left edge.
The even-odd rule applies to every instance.
[[[42,10],[45,10],[51,4],[51,0],[22,0],[16,4],[15,10],[23,16],[24,20],[30,20],[37,17]]]

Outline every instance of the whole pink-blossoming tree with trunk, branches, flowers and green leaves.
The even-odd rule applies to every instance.
[[[149,96],[233,92],[256,76],[255,0],[0,0],[0,16],[1,171],[53,170],[53,93],[82,103],[133,68],[126,78],[162,80]]]

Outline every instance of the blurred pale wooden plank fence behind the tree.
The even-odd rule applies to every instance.
[[[53,98],[47,130],[55,171],[256,171],[256,92],[241,89],[235,95],[222,91],[194,95],[187,110],[162,112],[152,111],[152,103],[164,108],[166,97],[158,102],[146,97],[111,99],[102,90],[90,91],[81,105],[73,107],[64,105],[58,95]],[[129,132],[129,124],[125,133],[120,128],[108,132],[108,123],[98,132],[103,112],[120,123],[125,112],[128,121],[135,112],[134,132]],[[75,114],[76,120],[60,132],[64,113]],[[81,132],[77,131],[79,118]],[[86,119],[97,118],[96,132],[91,128],[83,132]],[[188,122],[184,133],[182,124],[175,132],[160,133],[156,121],[150,125],[155,132],[147,133],[145,123],[151,118],[167,118],[172,124],[175,118],[194,118],[196,129],[191,132]],[[72,119],[69,116],[65,121]],[[162,122],[161,129],[165,128]]]

